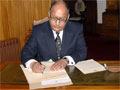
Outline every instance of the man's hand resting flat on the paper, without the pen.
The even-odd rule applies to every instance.
[[[67,61],[65,59],[60,59],[51,66],[50,70],[52,71],[62,70],[66,67],[66,65]]]

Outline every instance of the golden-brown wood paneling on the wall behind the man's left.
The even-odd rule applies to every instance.
[[[0,0],[0,40],[17,37],[21,48],[34,20],[48,16],[54,0]]]

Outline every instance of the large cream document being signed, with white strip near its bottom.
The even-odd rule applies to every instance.
[[[72,81],[65,69],[51,71],[50,67],[54,63],[53,61],[45,61],[41,63],[46,66],[43,73],[34,73],[27,68],[24,68],[23,65],[20,65],[29,83],[30,89],[72,85]]]

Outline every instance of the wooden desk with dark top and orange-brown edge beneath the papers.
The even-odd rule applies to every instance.
[[[119,61],[99,61],[103,63],[120,63]],[[24,89],[29,90],[26,78],[19,67],[20,61],[6,61],[0,65],[0,90],[3,89]],[[84,75],[77,68],[71,71],[71,68],[66,68],[66,71],[72,79],[73,85],[61,86],[54,88],[46,88],[40,90],[88,90],[88,89],[120,89],[120,73],[112,73],[109,71],[102,71],[93,74]]]

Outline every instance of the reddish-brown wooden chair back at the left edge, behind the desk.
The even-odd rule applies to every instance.
[[[0,63],[5,60],[20,60],[20,42],[18,38],[0,41]]]

